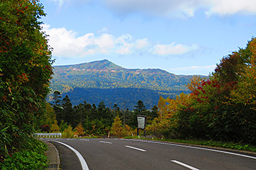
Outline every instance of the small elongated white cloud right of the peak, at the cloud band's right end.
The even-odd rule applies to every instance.
[[[187,52],[190,52],[191,50],[197,50],[198,45],[181,45],[177,44],[175,42],[169,44],[169,45],[155,45],[151,52],[152,54],[156,55],[183,55]]]

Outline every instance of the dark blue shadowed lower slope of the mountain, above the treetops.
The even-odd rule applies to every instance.
[[[154,91],[150,89],[139,88],[115,88],[115,89],[96,89],[96,88],[79,88],[75,87],[72,91],[68,91],[62,94],[62,96],[68,95],[74,105],[83,103],[95,103],[98,104],[104,101],[109,107],[117,104],[120,108],[129,108],[133,110],[137,101],[141,100],[147,109],[157,105],[159,96],[164,98],[175,98],[176,95],[181,94],[182,91]]]

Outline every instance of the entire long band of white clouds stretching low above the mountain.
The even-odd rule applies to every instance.
[[[198,45],[181,45],[175,42],[169,45],[151,45],[149,40],[133,40],[132,35],[125,34],[114,38],[104,33],[95,36],[87,33],[78,36],[74,30],[65,28],[50,28],[43,25],[43,31],[49,35],[49,45],[53,47],[53,56],[56,57],[84,57],[86,55],[132,55],[137,52],[146,55],[183,55],[198,50]]]

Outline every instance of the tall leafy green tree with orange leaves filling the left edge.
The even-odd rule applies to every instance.
[[[39,21],[45,15],[36,0],[1,1],[0,159],[33,141],[36,118],[44,113],[53,74]]]

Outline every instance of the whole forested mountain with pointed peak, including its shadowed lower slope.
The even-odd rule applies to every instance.
[[[188,93],[185,85],[193,77],[161,69],[125,69],[108,60],[54,66],[53,72],[50,89],[68,95],[74,105],[104,101],[110,107],[117,103],[129,109],[139,100],[152,108],[160,95],[174,98],[181,92]]]

